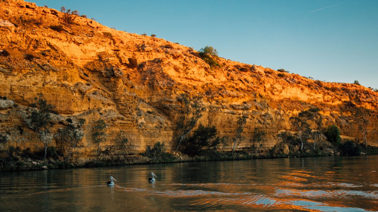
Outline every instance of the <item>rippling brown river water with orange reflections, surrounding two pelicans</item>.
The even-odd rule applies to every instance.
[[[2,172],[0,209],[378,211],[377,171],[378,155]]]

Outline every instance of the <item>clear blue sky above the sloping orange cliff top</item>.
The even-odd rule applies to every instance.
[[[378,0],[35,2],[197,50],[213,46],[230,60],[378,88]]]

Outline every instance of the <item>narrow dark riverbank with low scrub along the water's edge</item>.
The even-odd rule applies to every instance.
[[[231,152],[204,151],[200,155],[192,156],[174,152],[174,154],[164,152],[160,155],[148,157],[146,154],[132,155],[126,157],[115,157],[106,160],[97,158],[87,160],[85,163],[65,163],[59,160],[56,155],[49,155],[45,160],[33,157],[22,157],[22,155],[13,155],[8,158],[9,162],[5,166],[0,167],[0,171],[26,171],[26,170],[45,170],[45,169],[70,169],[83,167],[104,167],[104,166],[125,166],[133,164],[157,164],[157,163],[183,163],[183,162],[199,162],[199,161],[227,161],[227,160],[250,160],[250,159],[266,159],[266,158],[296,158],[296,157],[327,157],[340,155],[375,155],[378,154],[378,147],[362,147],[358,146],[358,152],[346,151],[303,151],[288,152],[288,154],[280,152],[280,146],[275,146],[267,152],[247,152],[236,151]],[[277,151],[278,150],[278,151]],[[355,149],[356,150],[356,149]],[[361,150],[361,151],[360,151]],[[50,152],[51,154],[51,152]],[[56,157],[56,158],[54,158]]]

